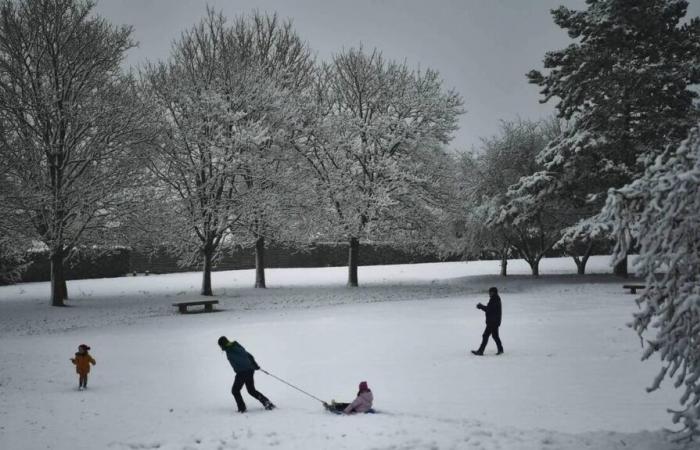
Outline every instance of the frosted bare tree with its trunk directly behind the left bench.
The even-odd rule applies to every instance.
[[[161,142],[149,167],[165,187],[161,195],[168,210],[174,211],[176,226],[163,230],[165,241],[176,242],[187,262],[202,262],[202,295],[212,295],[213,259],[238,197],[238,155],[228,148],[238,137],[234,130],[242,116],[229,107],[221,83],[223,26],[224,18],[210,11],[173,44],[169,62],[149,65],[142,74],[163,117]]]

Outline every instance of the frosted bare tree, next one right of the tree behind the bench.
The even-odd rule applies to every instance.
[[[227,57],[227,67],[258,70],[270,88],[265,102],[247,105],[248,117],[264,122],[269,134],[247,149],[243,178],[250,209],[233,224],[236,241],[254,245],[255,287],[264,288],[266,239],[289,240],[290,216],[299,213],[298,172],[290,170],[295,165],[290,139],[300,115],[296,94],[309,88],[315,66],[309,46],[291,21],[276,14],[255,11],[240,16],[226,34],[235,50]]]

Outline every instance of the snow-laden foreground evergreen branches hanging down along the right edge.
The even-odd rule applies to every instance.
[[[647,334],[644,359],[664,366],[650,391],[666,378],[685,389],[683,408],[670,411],[681,422],[681,439],[700,437],[700,126],[677,150],[656,158],[643,177],[613,191],[608,210],[616,224],[617,256],[636,241],[635,263],[646,290],[632,326]]]

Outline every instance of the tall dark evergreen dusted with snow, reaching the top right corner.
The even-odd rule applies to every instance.
[[[700,20],[682,23],[685,0],[586,3],[552,11],[574,42],[545,55],[548,73],[527,76],[542,87],[542,102],[556,98],[558,116],[575,123],[540,154],[539,189],[580,208],[593,202],[594,216],[609,188],[643,173],[697,117],[689,86],[700,82]],[[579,231],[599,230],[582,219]]]

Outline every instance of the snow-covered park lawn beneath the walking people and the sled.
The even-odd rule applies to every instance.
[[[512,261],[216,272],[221,312],[179,315],[200,275],[68,283],[72,307],[48,306],[48,283],[0,287],[0,449],[672,449],[661,431],[671,386],[645,393],[659,366],[640,362],[625,324],[635,296],[596,257],[576,276],[543,261],[539,279]],[[505,355],[475,357],[486,289],[503,299]],[[367,380],[378,414],[336,416],[261,373],[236,413],[220,335],[325,400]],[[97,365],[77,391],[69,358]],[[651,431],[650,431],[651,430]]]

